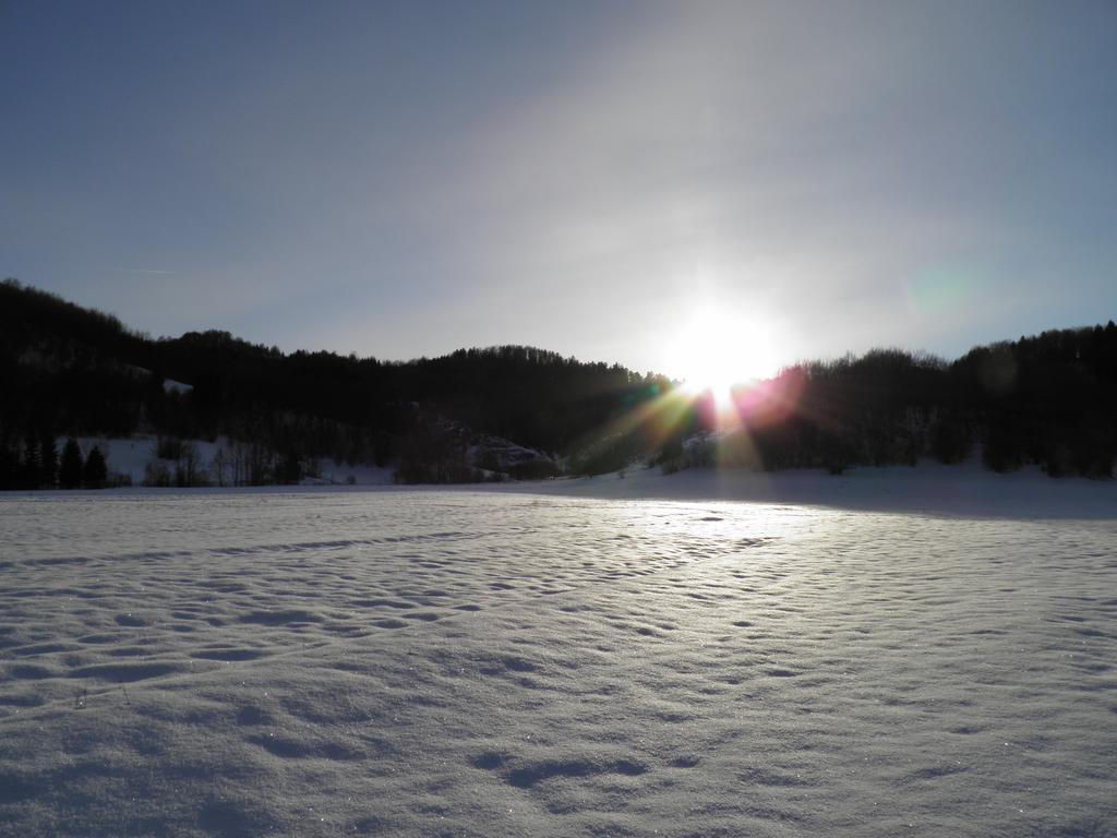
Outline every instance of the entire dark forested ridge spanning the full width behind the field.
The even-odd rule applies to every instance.
[[[298,482],[318,457],[389,466],[401,482],[454,483],[638,461],[837,474],[978,450],[995,470],[1034,464],[1052,477],[1109,478],[1117,326],[1052,330],[949,362],[880,349],[802,363],[736,391],[733,408],[726,428],[710,394],[687,398],[662,375],[531,346],[397,362],[284,353],[219,331],[153,339],[0,282],[0,489],[105,485],[99,451],[92,469],[93,453],[79,453],[64,482],[56,440],[137,434],[178,451],[181,485],[211,478],[189,470],[183,440],[219,435],[237,440],[230,469],[251,484]],[[538,456],[471,461],[480,437]]]

